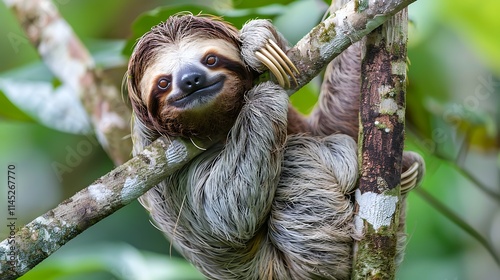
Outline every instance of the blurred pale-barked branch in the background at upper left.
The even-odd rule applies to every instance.
[[[97,139],[116,165],[130,158],[130,109],[50,0],[4,0],[43,62],[73,89],[90,116]]]

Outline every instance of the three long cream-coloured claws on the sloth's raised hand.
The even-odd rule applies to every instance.
[[[273,40],[269,39],[269,43],[264,48],[256,51],[255,56],[273,73],[280,86],[283,88],[290,87],[288,76],[292,77],[295,84],[297,84],[293,71],[299,74],[299,70]]]

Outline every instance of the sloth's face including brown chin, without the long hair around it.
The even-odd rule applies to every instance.
[[[158,132],[203,138],[227,133],[252,81],[238,46],[189,36],[157,48],[152,61],[138,88]]]

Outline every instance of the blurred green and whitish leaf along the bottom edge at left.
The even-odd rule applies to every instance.
[[[66,279],[106,272],[118,279],[204,279],[188,262],[160,254],[140,252],[127,244],[99,244],[53,255],[21,280]],[[108,277],[109,278],[109,277]]]

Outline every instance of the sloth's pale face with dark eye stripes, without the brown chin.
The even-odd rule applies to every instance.
[[[184,38],[162,47],[154,61],[140,85],[142,99],[151,112],[165,107],[206,108],[239,82],[235,71],[244,70],[238,50],[221,39]]]

